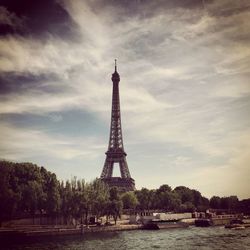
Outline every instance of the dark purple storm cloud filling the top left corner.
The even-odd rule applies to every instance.
[[[2,0],[0,15],[5,13],[14,22],[1,22],[0,34],[32,35],[40,39],[48,35],[76,39],[77,25],[68,13],[53,0]]]

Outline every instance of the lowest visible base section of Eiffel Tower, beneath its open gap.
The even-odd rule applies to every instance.
[[[109,177],[101,178],[109,187],[117,187],[118,189],[128,192],[135,190],[135,180],[132,178]]]

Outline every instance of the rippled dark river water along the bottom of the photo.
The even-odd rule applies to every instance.
[[[224,227],[133,230],[96,233],[84,236],[32,238],[26,242],[0,245],[0,249],[250,249],[250,228],[230,230]]]

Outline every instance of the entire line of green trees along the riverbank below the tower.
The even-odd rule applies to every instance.
[[[37,214],[60,216],[65,224],[72,219],[87,224],[90,216],[105,216],[107,222],[113,217],[116,223],[123,211],[244,211],[249,205],[250,199],[239,201],[237,196],[213,196],[209,200],[185,186],[172,189],[164,184],[158,189],[124,192],[109,188],[100,179],[85,182],[74,177],[63,182],[44,167],[0,161],[0,223]]]

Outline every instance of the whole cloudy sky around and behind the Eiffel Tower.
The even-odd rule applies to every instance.
[[[116,58],[137,189],[249,198],[249,20],[248,0],[1,0],[0,158],[99,177]]]

